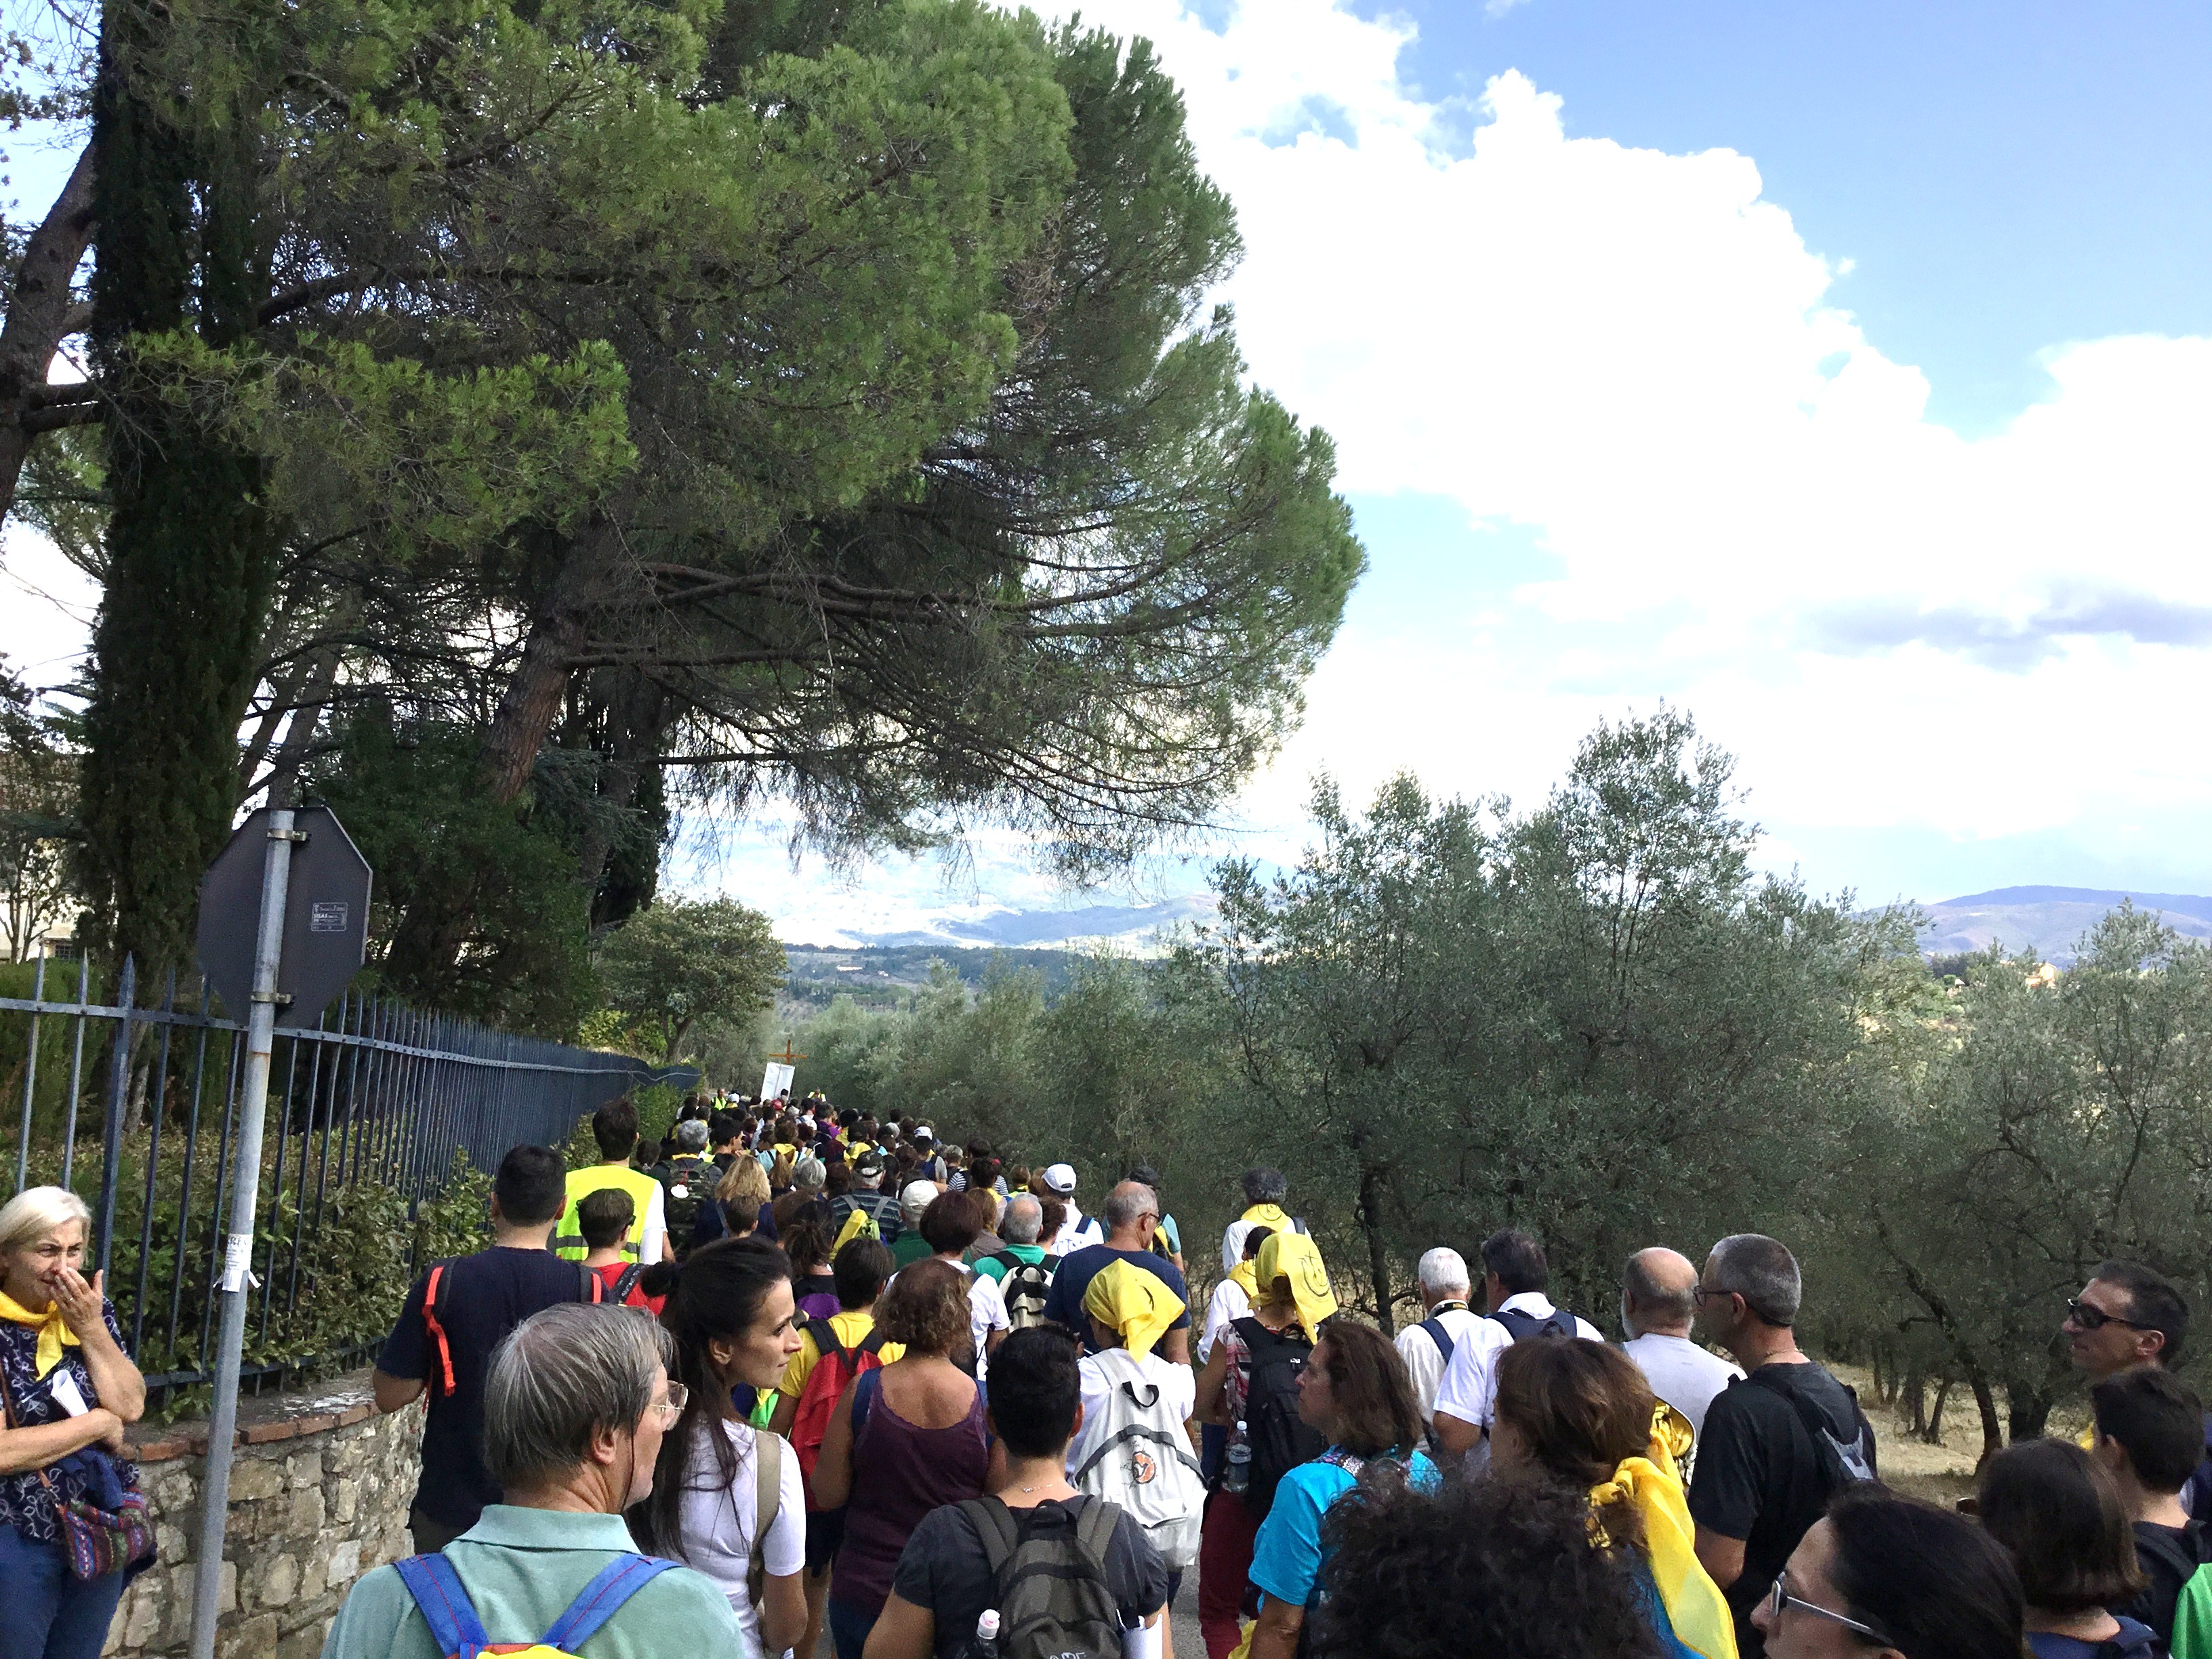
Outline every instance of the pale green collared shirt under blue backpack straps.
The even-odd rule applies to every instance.
[[[635,1555],[622,1515],[491,1504],[445,1546],[476,1617],[493,1641],[538,1641],[615,1555]],[[745,1632],[706,1573],[679,1566],[648,1582],[577,1650],[580,1659],[739,1655]],[[323,1659],[442,1659],[429,1624],[400,1582],[378,1566],[345,1597],[323,1639]]]

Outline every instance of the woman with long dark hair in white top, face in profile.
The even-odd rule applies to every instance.
[[[790,1263],[765,1239],[721,1239],[653,1272],[668,1283],[661,1325],[688,1398],[630,1535],[721,1584],[752,1641],[743,1659],[779,1655],[807,1628],[805,1486],[790,1444],[750,1427],[732,1396],[772,1389],[799,1352]]]

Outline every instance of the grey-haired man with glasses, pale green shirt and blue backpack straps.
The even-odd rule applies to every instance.
[[[626,1307],[549,1307],[518,1325],[484,1383],[484,1464],[504,1502],[442,1553],[363,1577],[323,1659],[533,1641],[591,1659],[745,1652],[721,1586],[639,1555],[622,1520],[653,1491],[661,1436],[684,1409],[672,1356],[668,1332]]]

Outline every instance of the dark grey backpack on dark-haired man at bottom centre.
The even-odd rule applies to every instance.
[[[960,1509],[998,1584],[1000,1659],[1121,1659],[1121,1613],[1106,1588],[1119,1509],[1104,1498],[1022,1511],[969,1498]]]

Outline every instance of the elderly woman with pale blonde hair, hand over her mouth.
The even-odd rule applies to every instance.
[[[93,1212],[66,1188],[35,1186],[0,1208],[0,1652],[93,1659],[128,1562],[75,1577],[62,1506],[135,1504],[124,1427],[146,1409],[146,1378],[124,1354],[102,1274],[84,1276]]]

